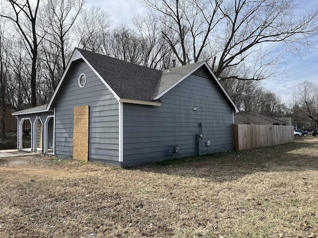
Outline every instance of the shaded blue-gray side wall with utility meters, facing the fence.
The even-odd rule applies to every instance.
[[[196,135],[202,123],[202,154],[232,150],[233,108],[210,78],[198,69],[163,95],[162,105],[124,104],[123,166],[196,155]],[[197,107],[194,111],[193,108]],[[206,146],[206,141],[211,141]]]

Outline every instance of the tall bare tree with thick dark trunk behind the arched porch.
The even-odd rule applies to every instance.
[[[24,43],[29,50],[32,66],[31,66],[31,104],[32,107],[37,105],[36,102],[36,64],[38,57],[38,47],[41,39],[38,39],[37,32],[37,16],[40,0],[36,1],[36,5],[32,6],[30,0],[6,0],[11,6],[8,15],[0,14],[14,22],[18,31],[21,33]],[[10,14],[11,13],[11,14]]]

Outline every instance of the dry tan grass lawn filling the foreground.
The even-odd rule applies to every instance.
[[[0,237],[318,238],[318,138],[121,169],[0,158]]]

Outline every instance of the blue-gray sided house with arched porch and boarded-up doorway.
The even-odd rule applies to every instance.
[[[19,150],[129,166],[232,150],[235,112],[205,61],[160,71],[75,49],[50,102],[13,115]]]

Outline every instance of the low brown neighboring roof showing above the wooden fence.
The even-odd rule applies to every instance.
[[[235,124],[253,125],[286,125],[286,121],[266,116],[261,113],[246,111],[234,115]]]

